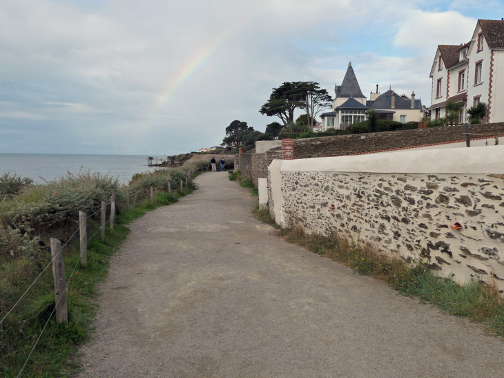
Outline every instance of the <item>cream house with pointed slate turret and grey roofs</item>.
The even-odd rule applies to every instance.
[[[380,120],[394,120],[397,122],[420,121],[424,115],[421,100],[415,100],[415,93],[411,97],[397,95],[392,89],[380,94],[378,86],[376,93],[371,93],[370,99],[362,94],[355,72],[348,65],[347,73],[340,86],[334,87],[335,98],[332,111],[320,115],[322,119],[320,131],[328,129],[344,130],[351,124],[367,120],[367,111],[375,109]]]

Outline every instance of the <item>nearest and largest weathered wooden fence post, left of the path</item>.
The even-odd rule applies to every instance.
[[[55,238],[50,238],[52,257],[52,277],[55,280],[56,296],[56,321],[58,323],[68,323],[68,308],[66,306],[66,280],[65,263],[63,261],[63,251],[61,242]]]

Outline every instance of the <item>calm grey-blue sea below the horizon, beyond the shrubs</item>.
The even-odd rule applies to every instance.
[[[57,155],[46,153],[0,153],[0,175],[4,172],[30,177],[35,182],[55,180],[68,172],[90,170],[128,182],[135,173],[153,171],[146,155]]]

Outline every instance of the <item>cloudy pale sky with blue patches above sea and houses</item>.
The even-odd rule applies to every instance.
[[[255,130],[282,82],[429,106],[438,44],[467,43],[489,0],[0,0],[0,153],[174,155]],[[300,114],[301,111],[298,111]]]

